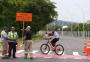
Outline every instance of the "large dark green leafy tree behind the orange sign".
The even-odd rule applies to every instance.
[[[33,14],[32,22],[25,23],[31,25],[32,32],[36,33],[46,24],[52,22],[57,16],[55,6],[50,0],[2,0],[0,3],[0,27],[12,26],[17,30],[22,28],[22,23],[16,22],[17,12]]]

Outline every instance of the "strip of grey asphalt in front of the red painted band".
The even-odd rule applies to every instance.
[[[18,58],[18,59],[0,59],[0,62],[90,62],[90,60],[77,60],[77,59],[41,59],[41,58],[36,58],[34,60],[30,60],[30,59],[22,59],[22,58]]]

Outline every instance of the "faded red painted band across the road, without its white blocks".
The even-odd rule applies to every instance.
[[[17,57],[24,57],[24,53],[17,53]],[[2,54],[0,54],[0,57],[2,57]],[[74,55],[61,55],[58,56],[56,54],[33,54],[34,58],[59,58],[59,59],[88,59],[90,60],[90,56],[74,56]]]

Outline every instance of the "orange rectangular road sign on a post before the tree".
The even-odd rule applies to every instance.
[[[17,22],[31,22],[32,13],[16,13]]]

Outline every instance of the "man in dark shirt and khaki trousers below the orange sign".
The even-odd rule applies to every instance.
[[[25,59],[27,59],[28,54],[30,55],[30,59],[32,59],[32,37],[31,37],[31,27],[27,26],[24,33],[25,39]]]

